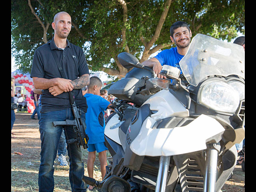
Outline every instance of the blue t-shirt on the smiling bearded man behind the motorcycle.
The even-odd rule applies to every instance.
[[[160,64],[163,65],[170,65],[173,67],[177,67],[180,69],[180,60],[184,57],[177,51],[177,47],[172,47],[170,49],[165,49],[155,56]],[[181,69],[180,69],[181,70]],[[182,72],[181,72],[182,73]]]

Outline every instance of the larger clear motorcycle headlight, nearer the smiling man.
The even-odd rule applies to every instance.
[[[240,98],[233,86],[222,81],[213,80],[202,86],[199,102],[216,111],[235,113]]]

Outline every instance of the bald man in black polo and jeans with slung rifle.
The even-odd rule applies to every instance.
[[[38,174],[39,192],[54,190],[54,160],[63,126],[54,126],[53,121],[74,120],[68,92],[72,91],[76,105],[81,110],[85,125],[87,111],[86,98],[82,89],[89,84],[89,70],[82,48],[70,43],[67,39],[72,24],[67,12],[59,12],[54,16],[52,28],[54,37],[36,49],[33,58],[31,77],[34,88],[44,90],[41,98],[40,138],[41,160]],[[60,63],[65,78],[62,78],[56,62]],[[75,138],[72,126],[65,126],[67,140]],[[69,180],[72,192],[85,192],[82,176],[84,163],[82,150],[76,143],[69,144]]]

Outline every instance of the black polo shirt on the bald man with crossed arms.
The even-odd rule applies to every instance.
[[[54,39],[36,49],[33,58],[32,70],[30,77],[38,78],[62,78],[58,66],[54,60],[51,50],[54,50],[60,61],[60,65],[67,79],[75,80],[76,78],[89,74],[86,58],[82,48],[70,43],[67,40],[67,46],[64,50],[58,48]],[[87,111],[86,98],[82,95],[81,89],[74,89],[76,105],[84,112]],[[41,112],[63,110],[71,107],[68,92],[53,96],[48,89],[43,91],[41,98]]]

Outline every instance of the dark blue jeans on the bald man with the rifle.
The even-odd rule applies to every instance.
[[[82,120],[85,125],[85,113],[82,111]],[[40,138],[41,138],[41,161],[38,173],[39,192],[53,192],[54,190],[54,160],[56,158],[58,144],[63,131],[63,126],[54,126],[53,121],[74,120],[72,109],[41,113]],[[75,138],[73,126],[66,126],[66,139]],[[82,176],[84,175],[84,163],[82,162],[82,148],[76,143],[68,145],[68,157],[70,162],[69,180],[72,192],[86,192]]]

